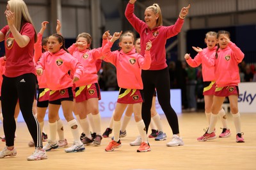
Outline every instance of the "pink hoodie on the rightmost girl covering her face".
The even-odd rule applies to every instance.
[[[244,53],[230,42],[224,49],[218,50],[218,58],[213,53],[209,59],[203,57],[207,66],[214,66],[215,80],[217,87],[238,85],[240,83],[238,64],[243,60]]]

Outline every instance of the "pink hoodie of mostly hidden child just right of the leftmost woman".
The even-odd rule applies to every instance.
[[[40,57],[42,57],[42,38],[43,35],[38,32],[37,34],[37,41],[34,44],[34,62],[38,62],[40,60]],[[40,89],[47,88],[47,83],[46,83],[46,76],[43,73],[41,76],[36,76],[37,81],[38,81],[38,86]]]

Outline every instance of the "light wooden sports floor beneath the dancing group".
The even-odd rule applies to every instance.
[[[228,113],[228,125],[233,134],[228,138],[217,138],[212,141],[196,141],[204,134],[207,127],[204,113],[182,113],[179,115],[180,134],[184,139],[184,146],[168,147],[166,143],[172,138],[172,131],[164,115],[161,115],[166,141],[148,141],[151,152],[137,153],[138,146],[129,146],[136,139],[138,130],[132,118],[127,127],[127,136],[122,138],[122,147],[114,152],[105,152],[111,138],[103,138],[101,146],[86,146],[81,153],[65,153],[64,149],[47,152],[48,159],[27,161],[34,148],[28,147],[31,140],[24,122],[17,125],[15,157],[0,159],[0,169],[256,169],[256,114],[241,114],[241,129],[244,132],[245,143],[236,143],[236,130],[232,115]],[[110,118],[102,118],[102,132],[109,124]],[[72,134],[65,122],[65,138],[72,145]],[[3,125],[0,124],[0,134]],[[221,122],[216,125],[216,134],[221,132]],[[49,132],[45,122],[45,131]],[[45,144],[45,142],[44,142]],[[0,148],[5,146],[0,141]]]

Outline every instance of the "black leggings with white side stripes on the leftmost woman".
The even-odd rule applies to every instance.
[[[35,88],[36,76],[33,73],[22,74],[13,78],[3,76],[1,102],[6,146],[14,146],[16,131],[14,112],[19,99],[20,111],[35,142],[35,146],[36,148],[42,148],[40,125],[32,113]]]

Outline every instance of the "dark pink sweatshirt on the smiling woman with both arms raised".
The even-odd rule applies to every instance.
[[[150,70],[159,70],[167,67],[166,64],[166,39],[176,36],[184,23],[184,20],[178,18],[174,25],[159,26],[150,30],[145,22],[134,15],[134,4],[127,4],[125,17],[131,23],[132,27],[140,34],[141,55],[145,55],[146,43],[152,41],[151,66]]]

